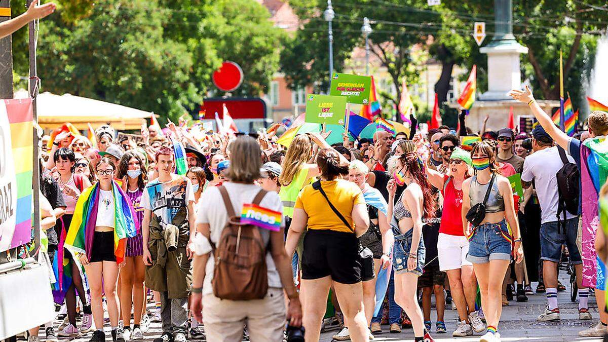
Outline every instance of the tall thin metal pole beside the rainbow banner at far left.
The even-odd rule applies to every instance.
[[[40,1],[39,1],[40,2]],[[38,113],[36,111],[36,97],[38,97],[38,68],[36,66],[36,44],[38,32],[38,20],[32,20],[27,24],[29,33],[29,57],[30,57],[30,96],[32,96],[32,120],[34,122],[33,129],[33,169],[32,169],[32,189],[33,189],[33,205],[34,205],[34,252],[38,251],[40,246],[40,142],[38,138]]]

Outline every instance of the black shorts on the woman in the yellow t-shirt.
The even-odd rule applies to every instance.
[[[353,233],[309,229],[304,237],[302,279],[331,276],[335,282],[361,282],[359,239]]]

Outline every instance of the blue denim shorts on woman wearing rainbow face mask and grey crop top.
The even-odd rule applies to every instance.
[[[511,233],[506,221],[484,223],[474,227],[469,238],[469,253],[466,260],[471,263],[488,263],[490,260],[511,260]]]

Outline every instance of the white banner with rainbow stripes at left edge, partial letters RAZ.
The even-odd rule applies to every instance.
[[[0,252],[32,240],[32,99],[0,102]]]

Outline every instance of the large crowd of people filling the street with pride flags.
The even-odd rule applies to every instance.
[[[44,136],[40,161],[43,251],[65,315],[44,326],[46,340],[91,333],[102,342],[105,326],[112,341],[143,340],[157,321],[154,342],[318,341],[330,326],[339,327],[334,340],[368,341],[384,324],[412,328],[415,341],[449,332],[495,342],[502,307],[534,291],[547,296],[538,321],[560,319],[565,257],[576,268],[579,319],[592,319],[589,287],[605,302],[603,234],[584,218],[584,196],[578,211],[564,209],[558,182],[566,164],[582,183],[601,167],[585,162],[585,139],[603,143],[608,113],[590,113],[588,131],[570,138],[529,89],[511,95],[539,121],[529,134],[474,133],[465,111],[459,131],[414,124],[409,134],[378,130],[334,145],[329,132],[306,133],[288,147],[276,130],[170,123],[135,139],[103,125],[88,139],[63,125]],[[596,259],[591,285],[586,249]],[[386,291],[376,290],[380,273]],[[457,310],[455,326],[446,307]],[[581,335],[603,336],[607,319],[600,310]]]

